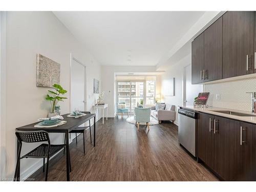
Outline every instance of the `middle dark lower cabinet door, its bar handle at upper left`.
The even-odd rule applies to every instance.
[[[240,122],[215,117],[215,171],[226,181],[240,180],[243,173],[243,145]]]

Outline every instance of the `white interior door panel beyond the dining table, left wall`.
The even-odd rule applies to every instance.
[[[78,61],[72,59],[71,63],[71,112],[75,109],[86,111],[85,93],[86,68]]]

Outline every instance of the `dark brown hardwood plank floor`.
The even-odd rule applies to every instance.
[[[96,123],[96,146],[86,133],[86,155],[82,135],[70,145],[71,181],[217,181],[178,144],[178,128],[171,122],[140,125],[126,122],[126,117],[109,118]],[[31,177],[43,181],[42,168]],[[66,157],[63,153],[49,164],[49,181],[66,181]]]

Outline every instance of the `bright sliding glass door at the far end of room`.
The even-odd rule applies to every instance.
[[[117,81],[117,102],[124,102],[130,113],[137,103],[145,106],[155,104],[155,80]]]

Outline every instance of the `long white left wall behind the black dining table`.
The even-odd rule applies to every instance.
[[[101,80],[101,68],[52,12],[8,12],[6,26],[6,177],[12,178],[16,162],[15,127],[46,117],[50,103],[45,100],[49,88],[36,83],[36,54],[60,63],[60,84],[70,94],[70,53],[86,65],[87,110],[92,110],[98,94],[93,93],[93,78]],[[70,97],[70,95],[67,97]],[[60,103],[61,114],[70,112],[70,100]],[[50,135],[52,143],[63,143],[60,134]],[[24,145],[23,154],[31,150]],[[1,149],[2,150],[2,149]],[[21,176],[31,174],[42,160],[21,162]]]

